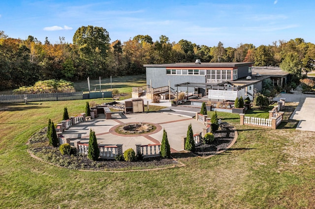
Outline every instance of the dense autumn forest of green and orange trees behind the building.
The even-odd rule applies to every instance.
[[[33,36],[27,40],[8,37],[0,31],[0,90],[34,84],[38,80],[76,81],[87,77],[108,78],[144,74],[144,64],[174,62],[254,62],[254,66],[280,66],[301,77],[315,67],[315,45],[303,38],[279,40],[265,46],[240,43],[236,48],[196,45],[189,40],[171,42],[165,35],[156,41],[136,35],[111,42],[105,28],[81,26],[72,43],[44,43]]]

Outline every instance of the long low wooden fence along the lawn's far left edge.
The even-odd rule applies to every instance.
[[[82,99],[83,99],[82,92],[0,95],[0,103],[65,101],[65,100],[82,100]]]

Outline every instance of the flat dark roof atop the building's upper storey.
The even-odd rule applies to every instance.
[[[147,68],[154,67],[237,67],[252,65],[253,62],[202,62],[201,64],[195,64],[194,62],[182,62],[182,63],[171,63],[171,64],[149,64],[143,65]]]

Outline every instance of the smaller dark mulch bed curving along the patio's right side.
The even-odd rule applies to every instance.
[[[211,144],[201,144],[195,147],[197,156],[207,157],[225,149],[234,139],[234,127],[230,124],[221,124],[220,130],[214,133],[215,141]]]

